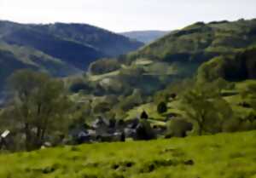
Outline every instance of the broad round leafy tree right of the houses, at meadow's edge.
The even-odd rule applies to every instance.
[[[205,83],[183,95],[182,110],[196,125],[198,135],[223,131],[224,123],[233,116],[229,103],[221,97],[221,89],[216,87],[215,83]]]

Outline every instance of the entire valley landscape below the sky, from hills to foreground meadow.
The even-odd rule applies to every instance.
[[[255,177],[256,20],[131,38],[0,21],[0,177]]]

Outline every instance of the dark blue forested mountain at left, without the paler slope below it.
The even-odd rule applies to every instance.
[[[84,69],[102,57],[124,55],[143,46],[127,37],[85,24],[18,24],[0,21],[0,40],[27,46]]]

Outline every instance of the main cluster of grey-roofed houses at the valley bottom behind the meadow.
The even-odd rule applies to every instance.
[[[148,124],[150,128],[145,128],[144,122],[147,122],[147,117],[127,121],[108,120],[99,117],[90,126],[86,125],[82,128],[70,130],[69,135],[76,143],[81,144],[101,141],[126,141],[127,139],[150,140],[154,136],[165,134],[166,127],[154,126],[151,128]]]

